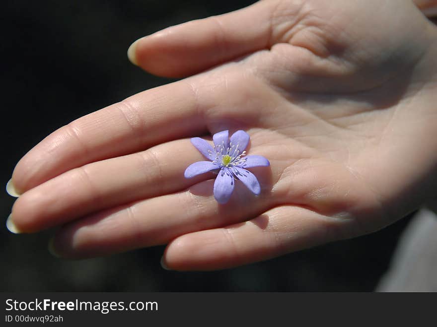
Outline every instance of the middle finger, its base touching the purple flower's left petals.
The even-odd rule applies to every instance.
[[[37,232],[107,207],[181,191],[212,178],[211,173],[184,178],[185,168],[202,159],[190,140],[183,139],[94,162],[20,196],[12,208],[12,221],[21,232]]]

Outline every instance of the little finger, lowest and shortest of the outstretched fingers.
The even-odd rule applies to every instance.
[[[215,270],[268,260],[334,241],[346,224],[302,207],[276,207],[250,221],[180,236],[162,263],[174,270]]]

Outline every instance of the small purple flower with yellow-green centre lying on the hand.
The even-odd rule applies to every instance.
[[[259,195],[261,188],[255,175],[245,168],[269,166],[269,160],[260,155],[245,156],[249,134],[236,131],[229,140],[229,131],[213,135],[214,147],[200,137],[193,137],[191,143],[211,161],[198,161],[185,170],[185,178],[209,171],[218,171],[214,182],[214,197],[218,203],[226,203],[234,190],[234,180],[240,180],[253,194]]]

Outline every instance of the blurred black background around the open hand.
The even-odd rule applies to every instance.
[[[1,13],[1,183],[72,120],[168,83],[129,63],[137,38],[255,1],[5,1]],[[3,226],[14,198],[1,193]],[[0,228],[0,291],[372,291],[411,217],[371,235],[217,272],[166,271],[164,247],[83,261],[53,258],[49,233]]]

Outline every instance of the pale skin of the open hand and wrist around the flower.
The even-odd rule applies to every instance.
[[[21,232],[58,227],[84,258],[168,244],[163,264],[267,260],[393,223],[436,188],[437,28],[409,0],[264,0],[173,26],[130,49],[189,76],[62,127],[16,165]],[[214,176],[183,177],[193,136],[247,131],[250,169],[225,205]]]

